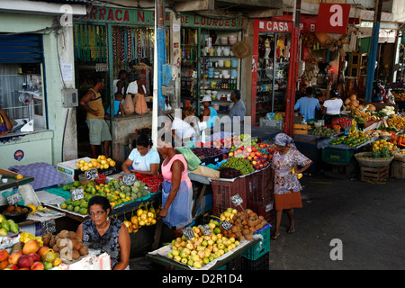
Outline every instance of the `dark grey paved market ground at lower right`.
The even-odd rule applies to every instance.
[[[284,213],[281,236],[270,244],[270,270],[404,269],[404,184],[304,176],[303,207],[294,210],[295,233],[286,233]],[[139,257],[130,260],[130,269],[162,267]]]

